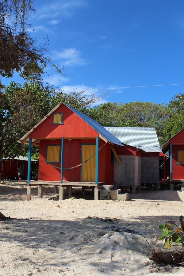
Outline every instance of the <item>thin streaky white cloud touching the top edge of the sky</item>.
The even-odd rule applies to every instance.
[[[49,4],[43,5],[34,13],[34,18],[53,18],[61,16],[62,18],[70,18],[76,8],[85,7],[86,0],[59,0],[51,1]]]

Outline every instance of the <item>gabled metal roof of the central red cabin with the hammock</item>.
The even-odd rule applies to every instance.
[[[102,125],[100,125],[97,121],[91,119],[90,117],[88,117],[87,115],[81,113],[80,111],[76,110],[75,108],[61,102],[58,105],[56,105],[40,122],[38,122],[33,128],[31,128],[29,130],[29,132],[27,132],[20,140],[18,140],[19,143],[28,143],[29,140],[29,134],[35,129],[37,128],[45,119],[47,119],[47,117],[49,117],[60,105],[66,105],[69,109],[71,109],[76,115],[78,115],[83,121],[85,121],[88,125],[90,125],[92,128],[94,128],[94,130],[96,130],[101,136],[103,136],[103,138],[105,138],[105,140],[113,143],[113,144],[117,144],[120,146],[123,146],[121,144],[121,141],[118,140],[117,137],[113,136],[111,133],[109,133],[109,131],[107,131]],[[32,139],[32,143],[36,142],[36,139]],[[35,145],[39,145],[39,141],[35,144]]]

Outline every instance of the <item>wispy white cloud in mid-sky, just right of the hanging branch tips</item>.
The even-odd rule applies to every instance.
[[[52,59],[56,59],[57,62],[63,66],[79,66],[85,65],[86,62],[81,57],[81,52],[76,48],[68,48],[62,51],[52,51]]]

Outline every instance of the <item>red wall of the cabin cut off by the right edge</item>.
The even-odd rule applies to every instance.
[[[181,134],[181,132],[179,134]],[[184,132],[183,132],[183,134],[184,134]],[[174,137],[174,138],[177,138],[177,136]],[[178,140],[178,138],[177,138],[177,140]],[[180,143],[181,142],[184,143],[184,137],[182,138],[182,140],[179,140],[179,141],[180,141]],[[172,157],[172,179],[184,179],[184,165],[177,165],[176,164],[177,163],[177,150],[180,150],[180,149],[184,150],[184,145],[172,145],[172,153],[173,153],[173,157]]]

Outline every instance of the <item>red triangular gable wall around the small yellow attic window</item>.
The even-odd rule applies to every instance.
[[[63,125],[52,124],[53,113],[45,119],[31,134],[30,138],[68,138],[97,137],[98,132],[91,128],[66,105],[61,105],[54,112],[63,113]]]

